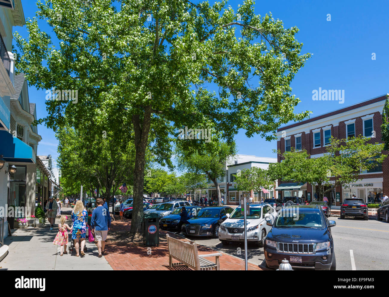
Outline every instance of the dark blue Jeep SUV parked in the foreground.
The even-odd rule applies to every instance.
[[[286,259],[293,268],[336,270],[331,227],[318,205],[284,207],[275,222],[266,222],[272,229],[263,248],[266,265],[279,268]]]

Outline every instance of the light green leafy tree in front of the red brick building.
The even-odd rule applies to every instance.
[[[370,170],[382,163],[384,144],[370,144],[368,137],[335,139],[326,147],[327,153],[318,158],[310,158],[306,150],[286,151],[281,154],[282,162],[270,163],[271,179],[282,179],[295,183],[317,183],[319,199],[337,186],[348,187],[361,178],[361,171]]]

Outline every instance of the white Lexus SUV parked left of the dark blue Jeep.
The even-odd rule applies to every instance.
[[[241,207],[235,208],[233,213],[226,219],[219,229],[219,240],[223,245],[230,242],[244,242],[244,214]],[[267,220],[274,222],[277,212],[270,204],[250,204],[250,214],[247,218],[247,241],[256,243],[262,247],[265,242],[266,234],[272,228],[266,225]]]

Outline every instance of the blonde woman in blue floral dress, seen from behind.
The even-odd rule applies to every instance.
[[[76,256],[79,257],[79,241],[81,241],[81,256],[85,256],[85,235],[86,235],[86,222],[88,220],[88,212],[84,209],[84,205],[80,200],[75,203],[72,211],[73,231],[72,239],[74,239],[74,247]]]

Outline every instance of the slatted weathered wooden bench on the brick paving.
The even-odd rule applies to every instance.
[[[169,267],[184,264],[195,270],[220,270],[219,257],[222,256],[221,253],[199,255],[196,243],[183,242],[170,237],[169,234],[166,234],[166,239],[169,248]],[[207,257],[216,257],[216,263],[204,259]],[[180,262],[173,263],[173,259]]]

